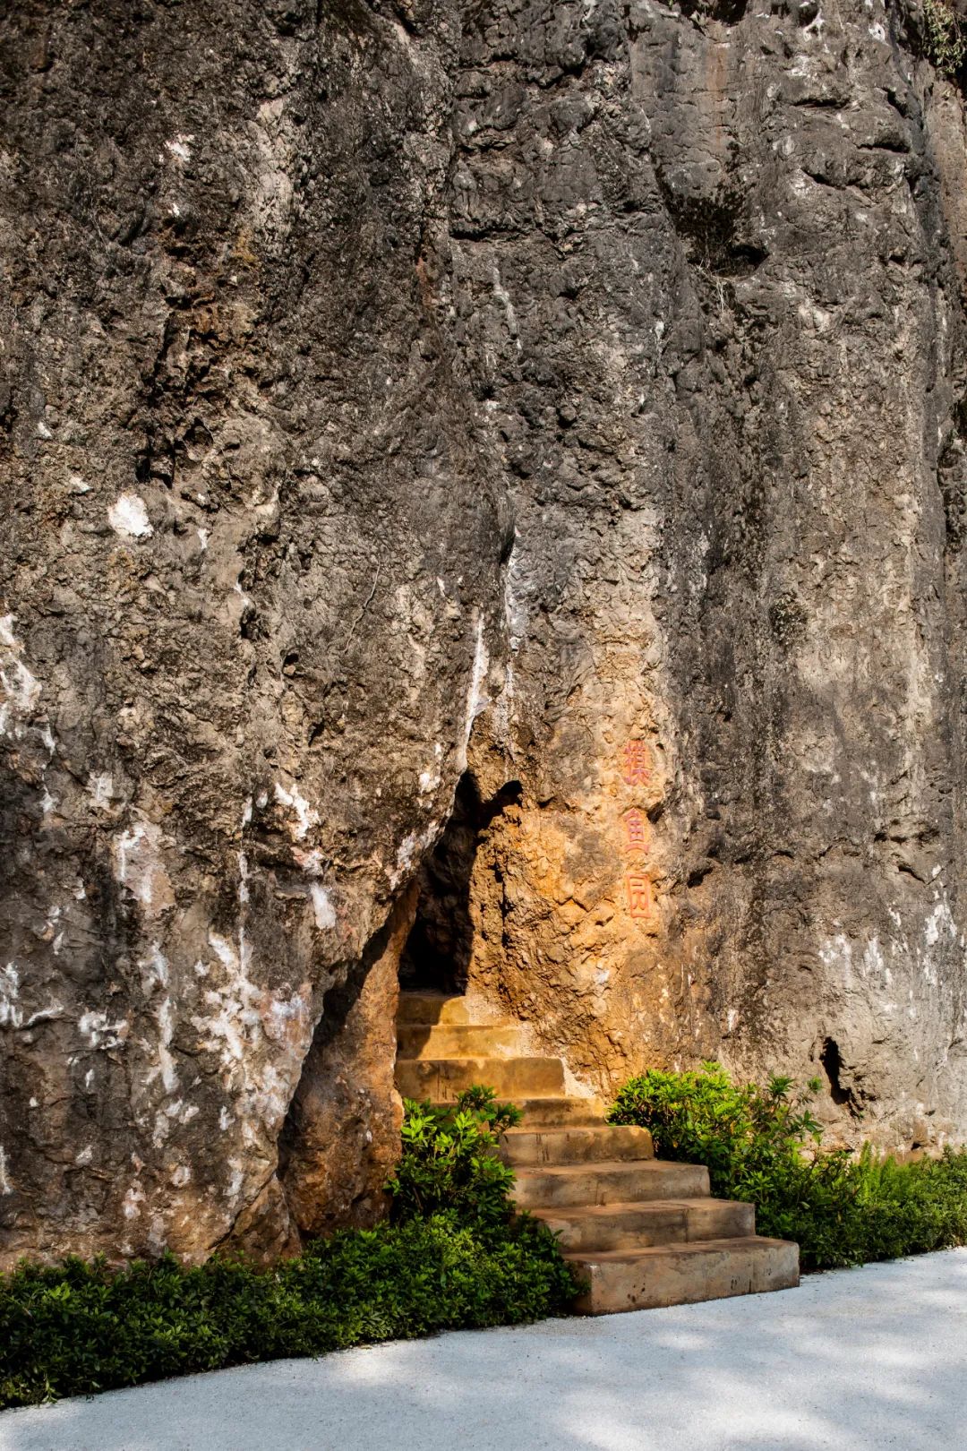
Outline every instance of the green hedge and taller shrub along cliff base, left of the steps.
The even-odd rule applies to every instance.
[[[563,1310],[577,1287],[557,1239],[512,1217],[513,1175],[487,1152],[518,1110],[471,1090],[428,1117],[407,1106],[393,1222],[297,1259],[67,1259],[0,1277],[0,1407]]]

